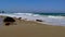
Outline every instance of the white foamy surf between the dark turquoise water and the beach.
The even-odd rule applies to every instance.
[[[6,16],[12,16],[12,17],[23,17],[23,18],[28,18],[30,21],[34,20],[42,20],[46,21],[47,23],[51,23],[54,25],[65,25],[65,16],[61,15],[40,15],[40,14],[35,14],[35,13],[0,13],[0,15],[6,15]]]

